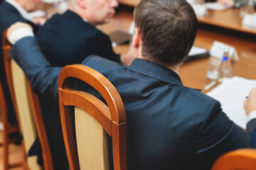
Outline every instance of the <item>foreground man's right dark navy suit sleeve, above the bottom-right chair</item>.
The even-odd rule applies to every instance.
[[[210,169],[209,165],[226,152],[251,147],[250,134],[229,120],[218,101],[209,108],[196,141],[197,160],[205,163],[197,162],[198,166],[206,165],[198,169]]]

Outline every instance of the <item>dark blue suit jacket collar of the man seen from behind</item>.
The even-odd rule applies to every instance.
[[[154,64],[152,62],[142,59],[136,59],[127,68],[134,72],[144,74],[146,77],[152,77],[154,79],[159,79],[169,84],[183,86],[181,79],[178,77],[178,74],[176,72],[166,67],[162,67],[159,64]]]

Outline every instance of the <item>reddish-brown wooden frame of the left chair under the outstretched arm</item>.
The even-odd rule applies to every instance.
[[[18,125],[21,130],[21,123],[20,123],[21,120],[20,120],[19,114],[18,114],[18,107],[17,107],[16,98],[15,98],[15,94],[14,94],[14,84],[13,84],[12,74],[11,74],[12,58],[9,55],[9,52],[11,51],[11,44],[6,38],[6,33],[7,33],[7,30],[4,31],[4,35],[3,35],[3,52],[4,52],[4,65],[5,65],[5,70],[6,70],[6,78],[7,78],[8,84],[9,84],[11,98],[14,103],[14,110],[16,111]],[[33,118],[34,118],[35,124],[36,124],[36,130],[38,132],[38,137],[41,142],[41,148],[42,148],[42,154],[43,154],[43,166],[44,166],[44,169],[46,169],[46,170],[53,170],[53,162],[52,162],[52,157],[51,157],[51,153],[50,153],[50,147],[48,144],[48,137],[46,135],[46,128],[43,123],[43,117],[41,114],[39,99],[38,99],[38,96],[33,93],[32,89],[31,89],[31,84],[29,83],[28,80],[26,80],[26,84],[27,84],[27,89],[28,89],[29,101],[31,104],[31,110],[32,110]],[[21,130],[21,134],[22,134],[22,130]],[[23,167],[25,169],[29,169],[28,164],[26,164],[26,152],[25,152],[24,144],[23,144],[23,153],[24,153]]]

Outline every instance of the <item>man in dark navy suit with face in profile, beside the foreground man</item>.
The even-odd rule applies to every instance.
[[[96,26],[114,16],[117,0],[68,0],[68,11],[55,14],[38,31],[43,55],[53,66],[78,64],[88,55],[124,62],[127,55],[115,54],[110,38]]]

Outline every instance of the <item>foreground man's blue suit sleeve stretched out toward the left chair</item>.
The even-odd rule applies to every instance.
[[[22,38],[12,47],[11,57],[18,63],[37,94],[58,96],[61,67],[51,67],[37,45],[36,38]]]

